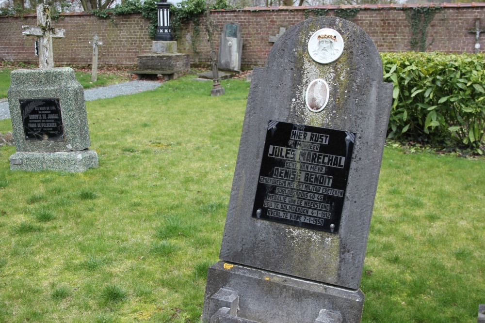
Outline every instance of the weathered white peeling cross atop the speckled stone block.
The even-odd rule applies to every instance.
[[[22,26],[22,29],[22,35],[39,38],[39,68],[53,68],[52,38],[65,38],[65,30],[51,27],[49,6],[37,5],[37,26]]]

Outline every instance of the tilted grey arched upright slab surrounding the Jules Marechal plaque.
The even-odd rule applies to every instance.
[[[340,58],[329,64],[315,62],[307,50],[310,37],[323,28],[338,31],[345,42]],[[328,83],[330,96],[316,113],[305,98],[318,78]],[[391,101],[379,53],[354,23],[315,17],[282,35],[265,66],[253,71],[220,259],[357,290]],[[252,216],[270,121],[356,133],[338,233]]]

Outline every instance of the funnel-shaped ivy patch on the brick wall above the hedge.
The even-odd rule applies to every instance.
[[[426,51],[428,39],[428,26],[435,18],[436,13],[442,8],[439,6],[426,6],[405,8],[407,22],[411,29],[409,44],[413,51]]]

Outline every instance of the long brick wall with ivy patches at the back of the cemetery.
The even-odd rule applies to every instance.
[[[351,7],[351,6],[347,6]],[[357,7],[357,6],[354,6]],[[262,66],[271,46],[270,35],[278,33],[280,27],[289,28],[305,19],[308,9],[327,9],[334,15],[340,6],[291,7],[291,8],[245,8],[238,10],[212,11],[211,19],[222,30],[226,22],[241,24],[243,47],[242,67]],[[379,51],[407,51],[411,47],[409,23],[402,7],[397,5],[365,5],[352,20],[366,31]],[[305,13],[307,12],[307,13]],[[312,17],[312,12],[309,17]],[[22,36],[22,25],[35,25],[35,15],[24,18],[0,17],[0,60],[11,62],[38,62],[33,53],[35,37]],[[474,52],[475,19],[481,19],[485,27],[485,3],[445,4],[428,27],[428,51]],[[200,34],[195,38],[196,52],[192,48],[194,26],[189,24],[180,33],[178,51],[191,54],[193,66],[208,65],[210,46],[204,29],[205,17],[201,17]],[[136,57],[151,52],[148,38],[148,22],[141,15],[115,17],[114,22],[90,14],[67,14],[53,23],[64,28],[66,38],[54,39],[54,62],[61,65],[90,65],[93,34],[99,34],[104,43],[99,47],[100,65],[136,65]],[[220,31],[216,33],[214,45],[217,50]],[[485,48],[485,34],[481,36]]]

